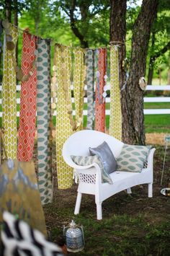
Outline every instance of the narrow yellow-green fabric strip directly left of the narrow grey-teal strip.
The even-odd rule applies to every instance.
[[[83,128],[83,108],[84,108],[84,52],[81,48],[73,50],[75,63],[73,70],[73,95],[76,110],[76,125],[79,131]]]

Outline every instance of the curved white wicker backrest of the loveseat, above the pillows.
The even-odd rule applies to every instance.
[[[82,130],[73,133],[63,144],[63,157],[71,155],[89,156],[89,146],[97,147],[104,141],[107,142],[115,157],[120,154],[123,143],[116,138],[94,130]]]

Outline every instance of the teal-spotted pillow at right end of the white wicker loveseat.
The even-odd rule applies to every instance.
[[[117,157],[117,171],[141,172],[151,146],[133,146],[124,144]]]

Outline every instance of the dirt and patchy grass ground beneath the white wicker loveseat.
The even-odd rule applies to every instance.
[[[170,155],[168,149],[167,155]],[[160,180],[164,147],[156,146],[154,156],[153,198],[147,197],[147,186],[132,188],[113,195],[102,203],[103,219],[97,221],[92,195],[83,195],[80,214],[73,215],[77,185],[68,190],[58,190],[55,177],[53,203],[44,206],[45,221],[50,239],[63,238],[63,225],[71,219],[84,226],[85,248],[71,255],[120,256],[159,255],[170,252],[170,200],[161,195]],[[168,159],[167,159],[168,160]],[[163,186],[167,185],[170,162],[166,162]]]

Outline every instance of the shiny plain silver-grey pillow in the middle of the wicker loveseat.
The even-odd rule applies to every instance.
[[[89,147],[91,156],[98,155],[102,159],[104,169],[108,174],[117,170],[117,162],[115,156],[112,154],[111,149],[106,141],[97,146],[96,148]]]

